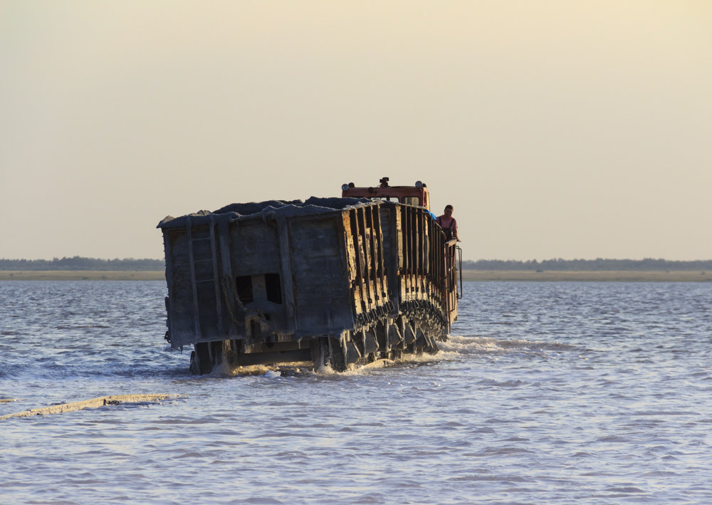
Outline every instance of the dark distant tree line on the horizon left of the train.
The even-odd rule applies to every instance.
[[[162,259],[96,259],[82,258],[53,258],[48,259],[0,259],[0,270],[164,270],[165,263]]]

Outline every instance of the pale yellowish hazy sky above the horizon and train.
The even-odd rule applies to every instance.
[[[712,1],[0,0],[0,258],[383,176],[465,259],[712,258]]]

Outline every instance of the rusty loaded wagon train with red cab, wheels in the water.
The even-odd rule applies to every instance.
[[[344,184],[341,198],[231,204],[158,227],[166,339],[193,346],[193,373],[224,361],[341,371],[435,353],[457,318],[459,247],[420,182],[384,177]]]

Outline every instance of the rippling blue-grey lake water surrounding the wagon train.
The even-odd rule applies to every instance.
[[[3,504],[712,503],[712,283],[466,283],[443,352],[189,374],[161,282],[0,282]]]

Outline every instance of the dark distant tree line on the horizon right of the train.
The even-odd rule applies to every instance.
[[[545,259],[536,261],[513,261],[501,259],[466,260],[463,269],[469,270],[582,270],[582,271],[668,271],[712,270],[712,260],[668,261],[666,259]]]

